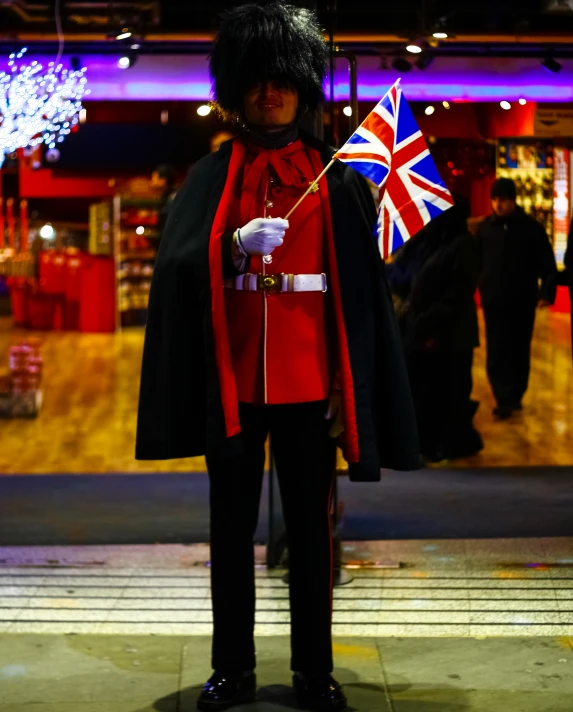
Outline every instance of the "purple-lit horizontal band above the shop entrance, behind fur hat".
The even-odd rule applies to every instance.
[[[28,61],[52,58],[35,56]],[[143,55],[130,69],[119,69],[117,57],[84,55],[92,100],[206,100],[210,96],[207,58],[198,55]],[[573,60],[561,60],[563,70],[551,74],[536,59],[439,58],[425,71],[413,69],[402,76],[412,101],[573,101]],[[381,70],[378,57],[358,61],[358,97],[378,101],[400,76]],[[348,97],[348,72],[337,62],[335,98]]]

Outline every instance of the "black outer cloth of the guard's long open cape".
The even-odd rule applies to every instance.
[[[302,134],[321,154],[332,151]],[[223,194],[231,143],[198,161],[175,198],[159,248],[145,336],[136,457],[143,460],[242,451],[227,437],[215,358],[210,232]],[[350,478],[380,468],[419,467],[414,410],[383,263],[373,237],[372,196],[337,162],[327,173],[342,314],[348,341],[360,459]]]

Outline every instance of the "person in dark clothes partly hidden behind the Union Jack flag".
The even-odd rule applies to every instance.
[[[474,349],[479,346],[475,292],[479,254],[468,233],[469,203],[454,196],[442,213],[387,265],[395,295],[421,450],[429,462],[475,455]]]

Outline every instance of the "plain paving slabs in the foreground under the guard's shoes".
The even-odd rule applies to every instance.
[[[296,703],[288,638],[258,640],[258,701]],[[209,638],[0,636],[0,712],[192,712]],[[337,638],[349,712],[571,712],[573,649],[556,638]]]

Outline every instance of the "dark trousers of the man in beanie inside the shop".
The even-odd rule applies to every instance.
[[[529,385],[535,307],[485,309],[487,375],[500,407],[521,403]]]

